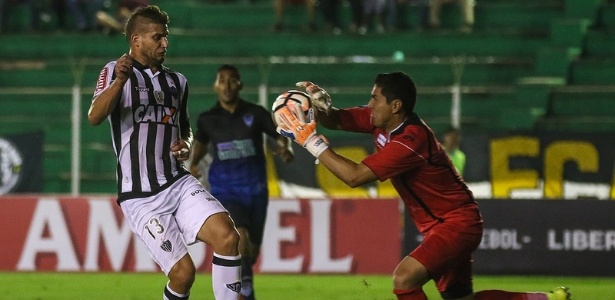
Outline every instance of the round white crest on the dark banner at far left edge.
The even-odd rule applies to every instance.
[[[23,158],[16,146],[0,138],[0,195],[10,192],[21,179]]]

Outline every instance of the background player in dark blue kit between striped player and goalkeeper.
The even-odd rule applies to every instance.
[[[218,101],[199,115],[190,171],[201,176],[198,163],[211,149],[211,193],[228,209],[240,233],[241,296],[255,299],[252,265],[259,255],[269,203],[263,133],[275,139],[273,151],[284,162],[294,155],[289,139],[276,133],[271,113],[239,96],[242,87],[237,68],[218,69]]]

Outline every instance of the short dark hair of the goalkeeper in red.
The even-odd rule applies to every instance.
[[[374,82],[382,89],[382,95],[386,97],[387,103],[399,99],[406,116],[414,113],[416,85],[408,74],[404,72],[380,73],[376,75]]]

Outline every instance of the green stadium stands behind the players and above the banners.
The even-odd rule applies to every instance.
[[[305,32],[305,11],[299,6],[287,9],[287,20],[295,22],[274,33],[269,1],[152,3],[171,16],[165,63],[188,77],[193,118],[214,103],[217,67],[232,63],[242,72],[243,95],[252,100],[258,99],[259,87],[267,87],[271,101],[308,79],[327,87],[336,105],[360,105],[369,100],[376,73],[403,70],[419,86],[417,111],[436,132],[451,123],[455,84],[466,132],[615,130],[615,119],[607,113],[615,111],[613,3],[482,0],[471,34],[455,30],[454,6],[443,10],[447,29],[415,30],[419,8],[411,5],[413,28],[366,35],[333,35],[324,28]],[[349,17],[343,7],[342,19]],[[98,72],[126,51],[126,41],[121,35],[46,30],[1,37],[0,99],[11,104],[5,111],[9,117],[0,118],[0,134],[44,131],[44,192],[69,191],[71,88],[79,86],[82,191],[113,191],[108,126],[89,125],[85,113]]]

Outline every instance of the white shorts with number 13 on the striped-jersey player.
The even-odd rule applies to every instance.
[[[209,216],[226,209],[193,176],[184,176],[157,195],[123,201],[126,222],[165,274],[197,242]]]

